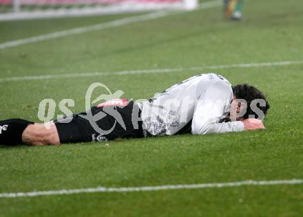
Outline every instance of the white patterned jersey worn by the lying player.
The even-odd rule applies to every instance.
[[[242,122],[222,122],[229,114],[232,98],[231,84],[222,76],[194,76],[138,103],[143,133],[148,136],[242,131]]]

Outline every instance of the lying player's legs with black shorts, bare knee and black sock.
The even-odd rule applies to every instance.
[[[137,114],[138,117],[140,116],[138,106],[134,106],[133,102],[129,102],[121,108],[119,106],[115,107],[116,109],[112,108],[113,111],[117,111],[121,115],[125,128],[116,122],[116,117],[107,114],[96,122],[102,130],[110,131],[107,135],[99,134],[90,121],[82,117],[87,115],[87,113],[80,113],[46,125],[34,124],[22,119],[10,119],[0,122],[2,131],[0,132],[0,144],[38,146],[143,137],[142,122],[138,122],[138,128],[135,128],[132,122],[134,114]],[[107,111],[104,107],[92,108],[93,115],[104,111]]]

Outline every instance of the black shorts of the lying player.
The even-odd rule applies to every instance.
[[[142,122],[133,122],[134,117],[140,117],[138,105],[127,100],[123,101],[123,105],[113,105],[110,102],[105,102],[91,108],[91,115],[99,114],[97,121],[87,116],[90,115],[90,111],[54,121],[59,133],[60,143],[143,137]]]

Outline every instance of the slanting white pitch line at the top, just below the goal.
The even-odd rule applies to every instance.
[[[219,5],[222,5],[221,0],[207,1],[205,3],[200,3],[197,10],[214,8]],[[92,32],[92,31],[96,31],[96,30],[104,30],[106,28],[116,27],[116,26],[120,26],[120,25],[126,25],[129,23],[136,23],[136,22],[140,22],[140,21],[149,21],[149,20],[157,19],[157,18],[160,18],[163,16],[168,16],[171,14],[180,14],[183,12],[187,12],[187,11],[186,10],[181,10],[181,11],[165,10],[165,11],[159,11],[159,12],[152,12],[149,14],[143,14],[143,15],[139,15],[139,16],[131,16],[131,17],[127,17],[124,19],[118,19],[116,21],[109,21],[107,23],[99,23],[96,25],[89,25],[86,27],[76,27],[76,28],[73,28],[70,30],[53,32],[50,34],[42,34],[40,36],[34,36],[31,38],[22,38],[22,39],[15,40],[15,41],[8,41],[6,43],[0,44],[0,49],[5,49],[8,47],[17,47],[19,45],[25,45],[28,43],[35,43],[35,42],[39,42],[39,41],[47,41],[50,39],[61,38],[64,36],[70,36],[70,35],[74,35],[74,34],[81,34],[81,33]]]

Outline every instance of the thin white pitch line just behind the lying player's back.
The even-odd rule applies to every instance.
[[[303,60],[281,61],[281,62],[236,63],[236,64],[231,64],[231,65],[212,65],[212,66],[201,66],[201,67],[190,67],[190,68],[140,69],[140,70],[129,70],[129,71],[65,73],[65,74],[54,74],[54,75],[45,75],[45,76],[22,76],[22,77],[0,78],[0,82],[13,82],[13,81],[23,81],[23,80],[48,80],[48,79],[55,79],[55,78],[121,76],[121,75],[146,74],[146,73],[170,73],[170,72],[177,72],[177,71],[201,71],[201,70],[204,70],[204,69],[274,67],[274,66],[282,66],[282,65],[300,65],[300,64],[303,64]]]

